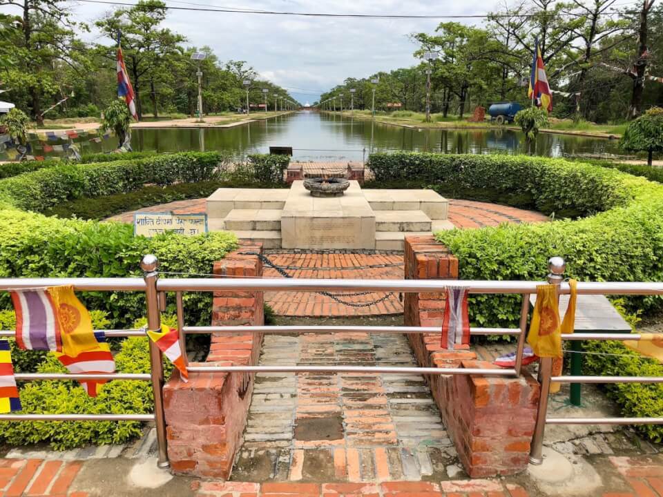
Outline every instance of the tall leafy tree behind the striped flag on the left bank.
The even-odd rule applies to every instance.
[[[122,35],[122,53],[135,93],[138,117],[144,113],[141,93],[149,86],[153,113],[157,117],[157,73],[167,59],[180,51],[178,46],[186,39],[167,28],[160,28],[166,19],[166,4],[160,0],[140,0],[131,8],[121,8],[97,21],[104,34],[117,39]],[[115,58],[115,46],[99,46],[106,56]]]

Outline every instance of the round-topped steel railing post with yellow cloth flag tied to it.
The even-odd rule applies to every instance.
[[[557,298],[559,298],[559,284],[564,281],[564,270],[566,262],[563,257],[550,257],[548,260],[548,283],[557,286]],[[532,436],[530,448],[530,464],[541,465],[544,462],[544,431],[546,431],[546,413],[548,412],[548,395],[550,394],[550,376],[553,374],[553,358],[541,358],[539,362],[539,410],[537,411],[537,422]]]

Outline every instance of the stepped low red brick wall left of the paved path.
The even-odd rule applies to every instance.
[[[224,276],[261,276],[260,244],[242,245],[215,262],[213,273]],[[262,292],[215,293],[213,325],[260,325],[265,315]],[[215,334],[205,363],[195,365],[257,364],[262,336],[254,333]],[[164,386],[168,455],[176,474],[228,478],[247,420],[253,376],[248,373],[190,373],[189,382],[179,374]]]

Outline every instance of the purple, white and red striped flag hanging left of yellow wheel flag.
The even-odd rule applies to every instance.
[[[48,289],[10,292],[16,312],[16,342],[21,349],[61,351],[57,305]]]

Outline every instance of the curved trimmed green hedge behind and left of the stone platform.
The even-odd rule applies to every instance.
[[[0,195],[22,209],[41,212],[79,197],[126,193],[144,184],[166,186],[220,177],[218,153],[177,153],[100,164],[65,163],[0,179]]]

